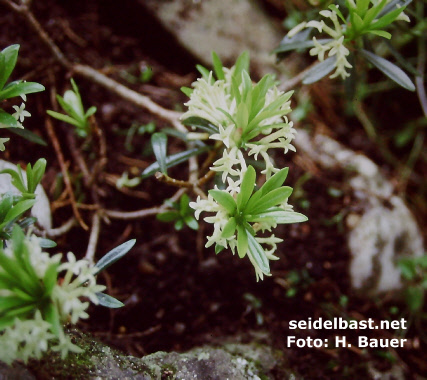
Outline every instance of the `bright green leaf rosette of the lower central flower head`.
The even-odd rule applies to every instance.
[[[229,221],[225,225],[222,237],[227,239],[237,233],[237,252],[239,257],[250,254],[262,272],[270,273],[269,261],[260,243],[255,239],[255,230],[250,223],[274,222],[276,224],[298,223],[307,217],[285,211],[278,207],[292,193],[292,188],[282,186],[288,174],[288,168],[280,170],[264,185],[254,191],[256,173],[249,166],[242,179],[240,193],[234,199],[227,191],[210,190],[209,194],[227,211]],[[216,247],[220,251],[223,247]]]

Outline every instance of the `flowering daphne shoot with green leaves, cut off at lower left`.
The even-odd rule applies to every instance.
[[[64,325],[88,318],[89,301],[107,307],[123,304],[104,293],[95,275],[126,254],[131,240],[109,252],[98,264],[76,260],[73,253],[61,263],[61,254],[42,251],[40,238],[13,228],[7,247],[0,249],[0,360],[40,358],[50,347],[64,358],[82,352],[64,331]]]

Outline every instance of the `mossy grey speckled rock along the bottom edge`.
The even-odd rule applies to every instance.
[[[261,344],[224,344],[186,353],[156,352],[143,358],[125,356],[92,338],[71,331],[74,342],[85,349],[61,360],[57,353],[33,361],[29,369],[37,378],[138,379],[138,380],[266,380],[298,379],[286,369],[283,354]],[[272,373],[279,373],[275,377]],[[1,373],[0,373],[1,378]]]

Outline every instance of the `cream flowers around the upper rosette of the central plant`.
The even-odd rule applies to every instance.
[[[241,177],[246,168],[246,158],[244,152],[249,156],[253,155],[255,159],[261,155],[265,162],[265,170],[262,172],[269,178],[279,169],[274,166],[272,158],[267,151],[269,149],[283,149],[284,153],[289,150],[295,151],[291,144],[295,138],[296,131],[293,123],[289,122],[285,114],[291,112],[289,98],[292,91],[284,93],[275,85],[268,89],[264,106],[257,116],[262,115],[263,111],[281,97],[281,102],[274,111],[277,114],[266,118],[261,118],[257,126],[261,132],[248,139],[242,136],[243,126],[236,125],[238,108],[240,105],[235,96],[232,96],[232,76],[235,67],[224,68],[224,77],[222,80],[214,80],[213,73],[210,72],[208,78],[199,78],[193,83],[194,91],[190,100],[185,103],[188,111],[182,115],[182,119],[198,117],[212,123],[218,129],[217,133],[208,135],[211,140],[217,140],[224,144],[222,158],[213,163],[211,168],[214,171],[222,172],[222,180],[225,182],[229,176]],[[243,84],[240,85],[240,90]],[[248,112],[250,113],[250,109]],[[255,116],[256,118],[256,116]],[[246,120],[247,122],[247,120]],[[259,136],[263,136],[260,138]]]

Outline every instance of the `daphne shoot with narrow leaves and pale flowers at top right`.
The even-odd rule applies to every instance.
[[[397,20],[409,21],[404,10],[411,1],[346,0],[346,12],[331,4],[328,10],[320,11],[324,20],[298,24],[289,31],[275,52],[280,57],[290,50],[311,48],[310,55],[317,56],[320,63],[306,73],[304,84],[316,82],[333,70],[330,78],[350,77],[357,56],[366,59],[400,86],[414,91],[414,84],[402,69],[365,48],[365,37],[373,35],[391,39],[392,35],[385,28]],[[327,38],[317,39],[314,36],[310,39],[313,30]]]

